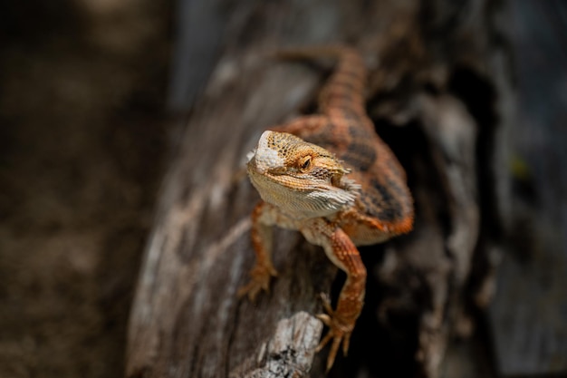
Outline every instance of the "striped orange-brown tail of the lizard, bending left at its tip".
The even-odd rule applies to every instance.
[[[319,95],[320,111],[327,115],[332,115],[333,111],[365,112],[366,66],[356,50],[345,46],[308,47],[284,50],[276,57],[290,60],[338,59],[334,72]]]

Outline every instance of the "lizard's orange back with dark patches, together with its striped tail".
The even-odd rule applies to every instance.
[[[332,151],[351,169],[349,177],[361,186],[357,210],[363,221],[393,234],[408,232],[414,210],[406,173],[366,115],[367,70],[360,53],[337,47],[308,50],[300,56],[322,55],[338,58],[319,96],[319,109],[324,117],[318,127],[295,133]]]

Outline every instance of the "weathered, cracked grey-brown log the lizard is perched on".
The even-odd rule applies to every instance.
[[[312,360],[322,331],[312,315],[336,269],[319,248],[277,230],[271,293],[255,304],[236,297],[253,265],[248,215],[258,199],[237,172],[261,131],[312,111],[323,77],[268,59],[283,46],[349,42],[365,53],[370,115],[416,201],[414,232],[361,248],[366,305],[350,359],[339,357],[331,374],[437,376],[451,336],[471,333],[467,310],[491,296],[489,251],[506,191],[496,170],[505,50],[490,2],[393,3],[216,3],[230,8],[225,39],[161,191],[131,311],[127,376],[324,375],[324,354]]]

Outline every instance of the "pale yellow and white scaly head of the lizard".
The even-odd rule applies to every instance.
[[[332,152],[292,134],[264,131],[248,157],[260,197],[293,218],[332,215],[358,196],[360,186]]]

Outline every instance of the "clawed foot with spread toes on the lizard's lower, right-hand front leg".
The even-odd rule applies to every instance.
[[[316,315],[324,325],[329,327],[329,332],[325,334],[321,343],[315,348],[315,353],[318,353],[322,348],[331,344],[331,350],[329,351],[329,356],[327,357],[326,369],[329,372],[334,363],[337,352],[342,342],[342,353],[347,355],[349,351],[349,344],[351,342],[352,329],[354,328],[354,322],[350,322],[348,319],[342,319],[340,314],[332,309],[331,301],[328,296],[322,295],[322,304],[327,314]]]

